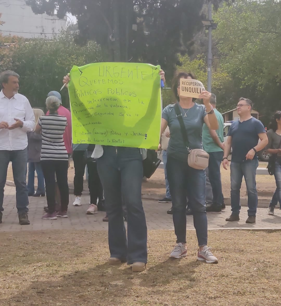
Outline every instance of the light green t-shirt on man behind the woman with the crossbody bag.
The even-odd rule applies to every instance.
[[[215,108],[214,108],[214,112],[215,112],[215,116],[217,117],[218,123],[219,123],[219,129],[216,130],[216,133],[219,137],[219,140],[223,142],[223,124],[224,124],[223,116]],[[204,150],[208,153],[223,151],[223,149],[221,149],[212,139],[208,126],[205,123],[203,125],[202,141],[203,141]]]

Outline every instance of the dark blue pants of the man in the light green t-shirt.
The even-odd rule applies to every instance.
[[[209,155],[208,171],[213,191],[213,204],[221,207],[223,204],[223,191],[220,176],[220,164],[223,160],[223,152],[211,152]]]

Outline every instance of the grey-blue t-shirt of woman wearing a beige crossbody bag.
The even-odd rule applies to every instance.
[[[181,107],[180,110],[182,111]],[[184,109],[187,117],[182,118],[185,125],[187,138],[190,149],[202,149],[202,127],[204,117],[207,115],[206,107],[201,104],[194,103],[189,109]],[[167,148],[167,155],[182,161],[187,160],[187,148],[182,138],[181,127],[174,110],[174,104],[170,104],[163,109],[162,118],[168,121],[170,129],[170,140]]]

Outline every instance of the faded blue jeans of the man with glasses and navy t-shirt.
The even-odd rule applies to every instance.
[[[258,205],[256,170],[258,165],[258,159],[230,163],[230,196],[233,215],[239,215],[240,213],[240,188],[244,176],[248,192],[248,216],[256,216]]]

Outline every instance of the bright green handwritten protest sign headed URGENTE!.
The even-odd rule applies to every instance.
[[[159,69],[137,63],[73,66],[68,86],[73,143],[157,149]]]

